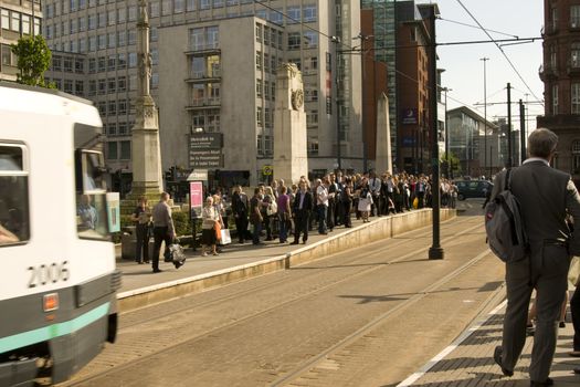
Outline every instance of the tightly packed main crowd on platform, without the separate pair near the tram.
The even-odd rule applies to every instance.
[[[447,179],[441,180],[441,205],[455,207],[457,187]],[[213,198],[220,195],[214,195]],[[338,171],[309,181],[300,177],[297,184],[286,185],[283,179],[271,185],[261,184],[253,192],[244,192],[235,186],[231,197],[231,215],[235,220],[239,243],[252,240],[262,243],[278,239],[280,243],[300,240],[306,243],[308,231],[317,226],[319,234],[335,227],[352,227],[351,218],[369,221],[369,217],[381,217],[409,211],[413,208],[431,207],[432,181],[428,176],[407,172],[381,176],[369,174],[344,175]],[[220,200],[220,199],[218,199]],[[218,206],[222,218],[230,213]],[[209,227],[209,226],[208,226]],[[228,221],[220,221],[221,228]]]

